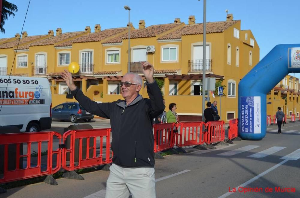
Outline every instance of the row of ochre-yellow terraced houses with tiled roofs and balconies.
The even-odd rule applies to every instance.
[[[130,72],[143,75],[141,62],[149,61],[154,65],[155,77],[164,83],[166,110],[168,104],[174,102],[181,121],[201,120],[203,24],[196,23],[195,17],[190,16],[188,24],[175,19],[170,24],[149,27],[140,20],[137,29],[128,25],[129,64],[128,26],[101,30],[97,24],[94,33],[89,27],[71,33],[62,33],[58,28],[55,36],[53,31],[35,39],[32,36],[31,40],[25,40],[30,36],[22,36],[13,74],[47,77],[52,87],[52,106],[55,106],[74,101],[66,99],[69,90],[59,73],[67,69],[70,62],[77,62],[80,70],[74,75],[76,85],[89,98],[109,102],[122,99],[119,82],[128,72],[128,65]],[[207,77],[222,80],[226,86],[226,96],[212,98],[210,94],[210,100],[217,100],[221,119],[228,121],[237,118],[238,83],[259,62],[259,46],[251,31],[241,30],[241,21],[233,20],[232,14],[228,14],[225,21],[208,22],[206,32]],[[17,39],[0,39],[0,60],[6,57],[7,68],[12,65],[16,48],[11,42]],[[10,48],[4,48],[7,43],[11,43]],[[148,97],[145,86],[141,94]]]

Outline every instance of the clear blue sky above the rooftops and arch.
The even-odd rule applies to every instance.
[[[29,0],[8,0],[16,4],[19,11],[4,25],[5,34],[0,38],[13,37],[20,33]],[[32,0],[23,31],[28,35],[46,34],[48,30],[61,28],[63,32],[83,31],[95,24],[101,29],[125,27],[128,10],[130,21],[138,28],[140,19],[146,27],[174,22],[180,18],[188,23],[194,15],[196,23],[203,22],[203,1],[197,0]],[[300,43],[299,0],[207,0],[206,21],[223,21],[225,10],[241,20],[241,29],[250,29],[260,47],[262,59],[275,45]],[[300,74],[296,74],[300,77]]]

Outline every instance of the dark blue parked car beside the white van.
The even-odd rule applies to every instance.
[[[52,120],[69,120],[71,122],[84,120],[85,122],[90,122],[93,118],[94,115],[87,112],[77,102],[66,102],[52,108]]]

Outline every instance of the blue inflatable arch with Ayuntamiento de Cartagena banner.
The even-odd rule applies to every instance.
[[[238,136],[260,140],[267,131],[266,96],[289,73],[300,73],[300,44],[276,45],[238,84]]]

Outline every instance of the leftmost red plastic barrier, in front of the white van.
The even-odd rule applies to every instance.
[[[0,134],[0,145],[4,146],[4,162],[0,162],[4,164],[4,172],[3,177],[0,178],[0,183],[17,181],[20,179],[29,179],[37,176],[44,176],[56,173],[61,168],[61,151],[58,148],[53,151],[53,136],[56,136],[59,139],[59,144],[61,143],[61,135],[55,131],[47,131],[47,132],[31,132],[31,133],[10,133],[10,134]],[[37,157],[32,156],[32,143],[37,142]],[[46,162],[46,170],[42,171],[41,167],[41,154],[45,153],[42,151],[42,142],[47,142],[47,162]],[[27,150],[23,151],[26,153],[20,153],[20,149],[24,148],[23,145],[27,144]],[[15,159],[12,159],[12,156],[9,152],[11,147],[15,145]],[[21,150],[22,150],[21,149]],[[52,166],[53,155],[56,154],[56,166]],[[26,161],[24,160],[25,158]],[[33,160],[36,159],[37,165],[33,165]],[[15,162],[13,165],[11,164]],[[23,167],[23,162],[26,162],[26,167]],[[15,166],[14,166],[15,165]],[[9,166],[15,167],[14,170],[9,170]]]

